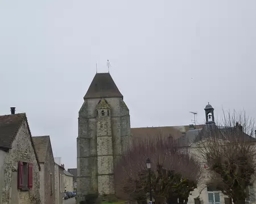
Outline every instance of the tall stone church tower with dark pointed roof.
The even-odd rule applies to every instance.
[[[131,146],[130,113],[109,73],[97,73],[79,111],[77,202],[114,194],[113,167]]]

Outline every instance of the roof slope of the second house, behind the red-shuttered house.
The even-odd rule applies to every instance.
[[[38,154],[38,159],[40,163],[46,162],[46,154],[48,145],[51,142],[49,136],[38,136],[38,137],[32,137],[36,154]]]

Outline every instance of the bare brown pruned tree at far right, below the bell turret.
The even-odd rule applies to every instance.
[[[256,168],[254,121],[244,112],[228,112],[224,113],[221,124],[205,125],[197,149],[209,167],[209,184],[235,204],[243,204]]]

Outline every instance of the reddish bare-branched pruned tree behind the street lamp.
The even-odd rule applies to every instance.
[[[170,137],[155,135],[134,141],[129,152],[115,165],[115,187],[119,198],[146,203],[150,158],[152,196],[155,203],[186,203],[189,193],[200,179],[200,164],[185,148],[181,149]]]

